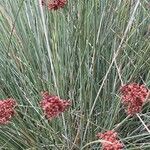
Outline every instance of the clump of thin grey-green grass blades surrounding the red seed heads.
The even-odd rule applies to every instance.
[[[149,104],[125,119],[119,96],[122,84],[150,86],[148,4],[68,0],[50,11],[40,1],[1,0],[0,99],[18,106],[0,126],[0,148],[96,150],[95,135],[116,126],[125,149],[150,148]],[[48,121],[41,91],[70,99],[71,108]]]

